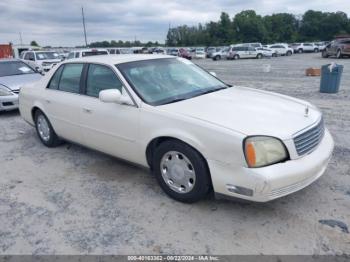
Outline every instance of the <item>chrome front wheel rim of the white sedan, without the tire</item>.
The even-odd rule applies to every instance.
[[[165,153],[160,161],[160,171],[168,187],[177,193],[188,193],[195,185],[194,167],[191,161],[180,152]]]

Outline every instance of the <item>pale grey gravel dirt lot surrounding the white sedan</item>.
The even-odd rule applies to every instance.
[[[228,83],[306,99],[324,113],[336,143],[325,175],[266,204],[175,202],[149,171],[77,145],[46,148],[18,112],[0,114],[0,253],[349,254],[350,59],[337,60],[345,71],[336,95],[304,76],[334,60],[195,61]]]

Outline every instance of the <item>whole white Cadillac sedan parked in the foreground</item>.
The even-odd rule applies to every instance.
[[[42,143],[72,141],[150,167],[172,198],[265,202],[325,171],[333,140],[308,102],[229,86],[188,60],[95,56],[63,62],[20,93]]]

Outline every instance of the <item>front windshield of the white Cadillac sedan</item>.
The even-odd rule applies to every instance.
[[[163,58],[116,65],[148,104],[163,105],[228,86],[188,60]]]

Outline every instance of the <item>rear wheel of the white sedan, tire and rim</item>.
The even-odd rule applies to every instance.
[[[62,143],[56,135],[49,119],[41,110],[36,110],[35,128],[41,142],[47,147],[56,147]]]

